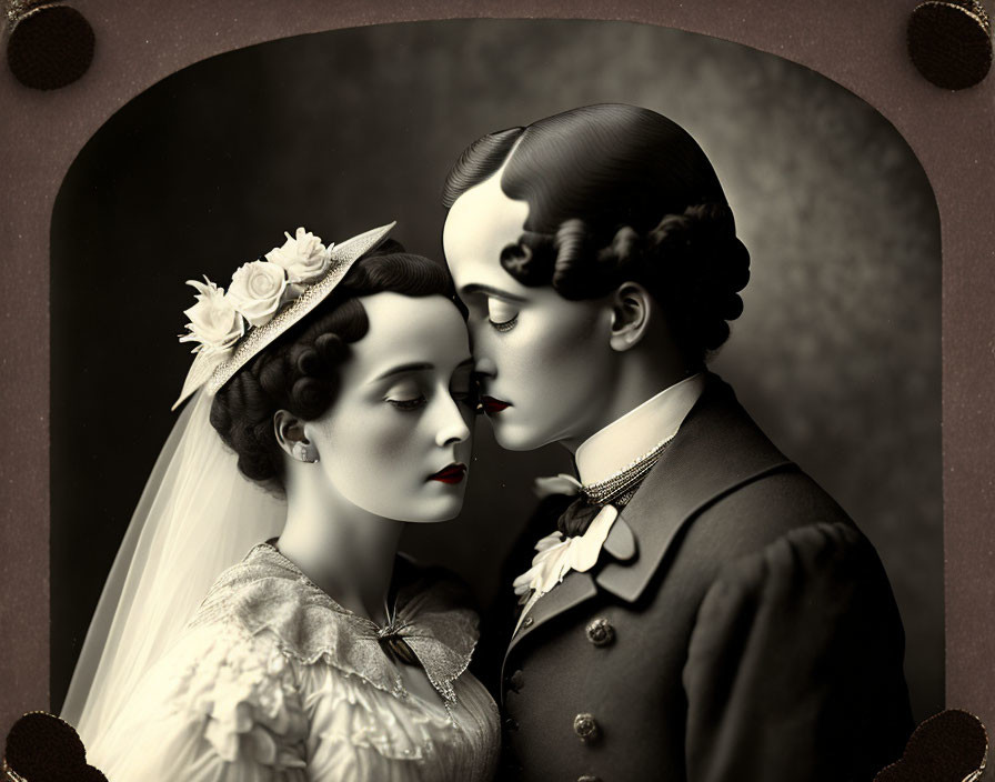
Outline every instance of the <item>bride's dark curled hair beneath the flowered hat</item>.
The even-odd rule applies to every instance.
[[[273,431],[278,410],[305,421],[324,414],[335,401],[339,367],[350,345],[370,328],[360,297],[394,292],[453,300],[445,269],[388,241],[349,270],[334,291],[259,352],[228,381],[211,404],[211,425],[239,457],[243,475],[282,483],[283,451]]]

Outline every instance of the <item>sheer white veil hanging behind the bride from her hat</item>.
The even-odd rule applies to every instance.
[[[61,713],[87,745],[218,575],[279,535],[287,518],[282,498],[239,472],[211,427],[212,399],[197,392],[173,427],[100,595]]]

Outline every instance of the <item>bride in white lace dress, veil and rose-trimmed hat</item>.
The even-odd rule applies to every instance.
[[[227,293],[191,282],[193,399],[62,712],[109,779],[493,774],[476,616],[398,554],[405,523],[463,501],[466,330],[442,267],[378,248],[389,230],[325,248],[298,229]]]

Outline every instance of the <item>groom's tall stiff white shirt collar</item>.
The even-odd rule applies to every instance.
[[[704,373],[693,374],[587,438],[574,454],[581,483],[611,478],[674,434],[704,388]]]

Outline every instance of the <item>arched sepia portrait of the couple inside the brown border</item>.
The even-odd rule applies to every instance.
[[[985,643],[934,149],[704,32],[311,29],[98,112],[44,215],[37,706],[88,773],[907,764]]]

